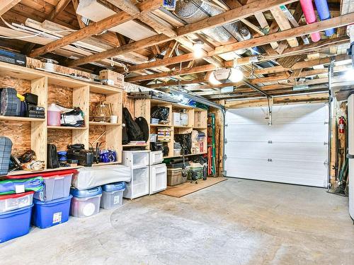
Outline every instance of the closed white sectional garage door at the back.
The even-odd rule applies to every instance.
[[[227,110],[228,177],[327,187],[329,107],[325,103]]]

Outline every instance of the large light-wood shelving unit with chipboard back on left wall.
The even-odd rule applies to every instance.
[[[37,159],[43,160],[45,163],[47,162],[47,143],[55,143],[58,151],[66,150],[67,145],[73,143],[84,143],[85,148],[89,148],[89,143],[105,132],[104,137],[101,139],[104,142],[101,148],[115,150],[118,154],[118,161],[115,163],[121,163],[122,90],[0,62],[0,85],[6,84],[8,86],[8,83],[1,83],[8,82],[8,80],[14,80],[13,87],[18,90],[18,93],[31,92],[38,95],[38,105],[45,107],[46,111],[45,119],[0,116],[1,126],[3,127],[1,135],[8,136],[16,143],[16,146],[13,146],[13,151],[19,148],[19,144],[16,142],[18,135],[14,135],[13,131],[11,131],[13,126],[23,129],[16,133],[25,134],[25,136],[21,136],[21,140],[25,140],[24,148],[33,149]],[[20,85],[17,86],[17,83]],[[22,88],[21,85],[26,86],[26,88]],[[97,99],[111,103],[112,114],[118,116],[117,124],[89,122],[91,107],[93,107],[93,102]],[[47,126],[47,107],[52,103],[59,103],[64,107],[80,107],[85,114],[86,126]],[[30,124],[25,125],[28,122]],[[8,129],[6,129],[6,126],[8,126]],[[110,164],[114,163],[100,163],[98,165]],[[78,167],[63,167],[55,170],[68,168]],[[50,171],[50,169],[47,170]],[[25,173],[28,173],[28,171],[11,172],[10,175]]]

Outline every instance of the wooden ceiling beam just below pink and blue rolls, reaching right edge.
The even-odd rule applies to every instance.
[[[244,40],[243,42],[236,42],[230,45],[219,46],[215,48],[215,51],[209,52],[209,56],[223,54],[226,52],[233,52],[236,51],[237,49],[244,49],[249,47],[256,47],[259,45],[265,45],[269,42],[287,40],[289,37],[299,37],[301,35],[307,35],[317,31],[327,30],[329,28],[338,28],[344,25],[349,25],[350,23],[353,23],[353,21],[354,21],[354,13],[349,13],[344,16],[330,18],[329,20],[323,20],[309,25],[302,25],[301,27],[298,28],[292,28],[290,30],[280,31],[279,33],[273,33],[270,35],[265,35],[263,37],[257,37],[251,40]],[[316,42],[314,45],[318,45],[318,42]]]

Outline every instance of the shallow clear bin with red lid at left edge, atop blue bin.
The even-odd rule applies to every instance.
[[[0,196],[0,213],[32,205],[33,194],[34,192],[24,192]]]

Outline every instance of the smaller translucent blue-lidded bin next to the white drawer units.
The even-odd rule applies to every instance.
[[[125,182],[102,186],[101,208],[111,209],[122,205]]]

